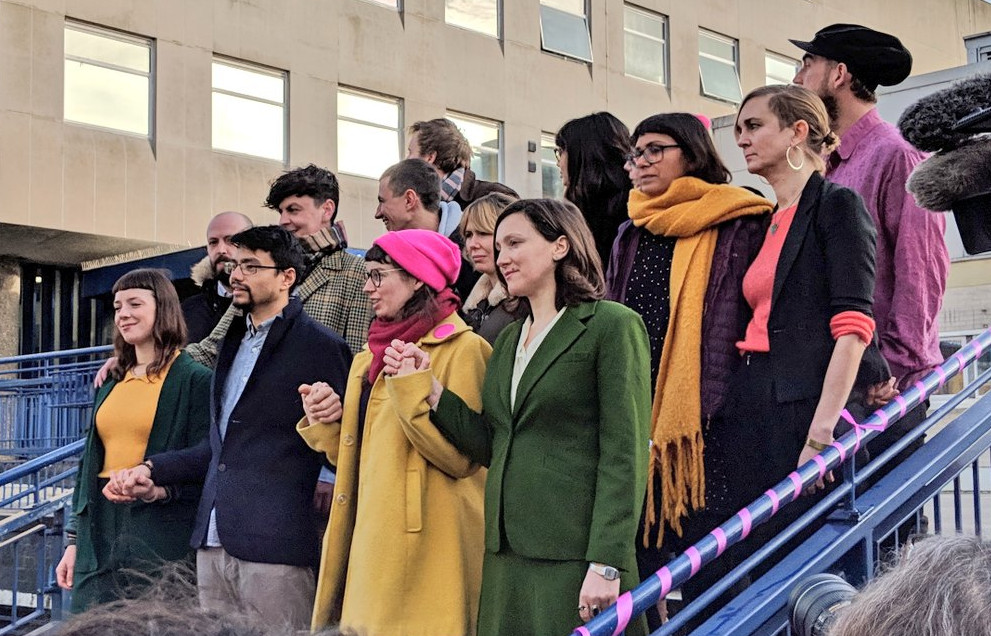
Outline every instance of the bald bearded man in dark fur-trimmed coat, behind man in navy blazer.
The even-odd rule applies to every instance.
[[[182,301],[187,340],[199,342],[210,335],[231,304],[231,292],[224,263],[231,260],[231,237],[253,223],[240,212],[221,212],[206,226],[206,256],[193,265],[189,277],[200,292]]]

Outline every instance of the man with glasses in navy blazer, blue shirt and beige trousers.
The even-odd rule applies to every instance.
[[[209,439],[116,473],[110,491],[150,501],[156,485],[203,480],[190,540],[200,604],[304,629],[320,556],[312,502],[321,460],[296,433],[300,387],[324,381],[341,394],[351,352],[290,295],[304,255],[289,231],[255,227],[231,241],[226,270],[246,315],[220,348]]]

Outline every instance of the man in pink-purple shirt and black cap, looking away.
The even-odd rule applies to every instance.
[[[805,51],[794,82],[822,98],[833,132],[840,136],[826,177],[857,191],[877,225],[874,318],[881,353],[896,388],[904,390],[943,360],[937,317],[949,269],[943,215],[918,207],[905,191],[909,174],[925,155],[882,120],[875,106],[879,85],[894,86],[908,77],[912,55],[898,38],[855,24],[834,24],[811,42],[791,42]],[[927,408],[928,403],[920,405],[872,440],[871,456],[906,435]]]

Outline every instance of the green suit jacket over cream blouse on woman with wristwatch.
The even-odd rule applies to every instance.
[[[445,391],[435,424],[489,467],[485,547],[629,569],[646,484],[650,347],[635,312],[569,307],[510,388],[522,323],[495,342],[483,415]]]

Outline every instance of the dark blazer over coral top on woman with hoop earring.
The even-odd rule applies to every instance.
[[[779,402],[817,399],[836,341],[833,316],[873,316],[877,230],[860,195],[813,173],[781,248],[767,321]],[[876,340],[876,336],[875,336]],[[857,386],[888,378],[877,346],[868,347]]]

